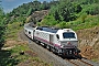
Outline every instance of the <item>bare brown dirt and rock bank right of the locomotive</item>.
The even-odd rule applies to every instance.
[[[99,62],[99,26],[77,31],[81,56]]]

